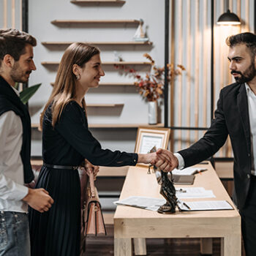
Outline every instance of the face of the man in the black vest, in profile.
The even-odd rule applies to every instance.
[[[17,83],[26,83],[32,70],[36,70],[33,61],[33,46],[27,44],[25,50],[25,53],[20,55],[20,59],[15,61],[10,72],[10,77]]]

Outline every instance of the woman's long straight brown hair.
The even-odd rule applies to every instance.
[[[75,100],[76,97],[76,77],[72,72],[74,64],[79,67],[85,67],[92,56],[99,54],[99,49],[86,45],[83,42],[74,42],[65,50],[64,55],[61,58],[59,69],[56,75],[56,80],[53,86],[53,91],[50,94],[50,98],[45,105],[40,117],[40,126],[42,128],[42,119],[45,115],[45,110],[50,104],[52,104],[52,125],[55,127],[57,121],[61,116],[61,113],[68,102]],[[86,110],[86,102],[82,101],[83,108]]]

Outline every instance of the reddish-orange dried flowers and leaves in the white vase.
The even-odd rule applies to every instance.
[[[145,78],[143,78],[135,69],[132,69],[125,65],[114,65],[116,69],[123,70],[127,74],[135,78],[135,86],[138,88],[140,95],[143,99],[148,100],[148,102],[153,102],[163,97],[164,86],[165,86],[165,67],[157,67],[155,65],[154,59],[148,53],[143,54],[146,59],[151,62],[151,72],[146,73]],[[181,75],[181,72],[186,70],[182,65],[177,65],[174,69],[173,64],[167,64],[167,80],[170,82],[171,78],[176,75]]]

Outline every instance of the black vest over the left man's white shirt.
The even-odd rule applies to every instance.
[[[31,154],[31,120],[29,111],[15,91],[4,78],[0,76],[0,116],[7,111],[14,111],[20,116],[23,127],[23,140],[20,157],[23,162],[24,183],[30,183],[34,179],[34,174],[30,163]],[[0,138],[1,140],[1,138]]]

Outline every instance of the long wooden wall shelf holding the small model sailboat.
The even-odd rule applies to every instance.
[[[73,42],[41,42],[42,45],[45,46],[53,46],[53,45],[71,45]],[[153,42],[135,42],[135,41],[127,41],[127,42],[84,42],[89,45],[152,45]]]

